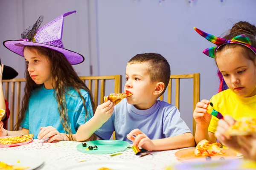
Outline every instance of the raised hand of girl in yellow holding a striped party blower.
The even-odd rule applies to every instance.
[[[208,127],[211,122],[212,115],[207,113],[208,104],[209,100],[206,99],[198,102],[193,113],[195,122],[197,123],[197,125],[200,125],[202,127]]]

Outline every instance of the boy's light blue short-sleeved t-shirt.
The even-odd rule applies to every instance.
[[[149,139],[163,139],[190,132],[174,105],[157,100],[151,108],[139,110],[128,104],[127,99],[122,99],[114,107],[111,118],[95,134],[101,139],[110,139],[115,131],[117,140],[132,143],[126,135],[136,128]]]

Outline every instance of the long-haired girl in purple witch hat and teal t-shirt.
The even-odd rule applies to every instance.
[[[48,142],[76,140],[74,134],[79,126],[93,116],[92,93],[72,67],[83,62],[84,57],[65,49],[61,41],[64,17],[74,12],[62,14],[38,29],[41,16],[21,34],[21,40],[3,42],[24,57],[27,71],[17,131],[3,129],[0,122],[0,136],[33,133],[34,138]]]

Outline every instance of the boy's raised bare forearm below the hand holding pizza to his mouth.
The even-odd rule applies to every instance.
[[[89,139],[93,133],[98,130],[100,127],[102,127],[103,123],[99,122],[99,119],[96,117],[92,117],[88,122],[86,122],[84,125],[81,125],[76,134],[76,141],[82,142]]]

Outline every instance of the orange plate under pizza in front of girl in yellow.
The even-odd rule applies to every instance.
[[[226,159],[237,159],[237,153],[231,149],[222,149],[221,154],[213,156],[196,156],[195,147],[179,150],[175,153],[179,161],[217,161]]]

